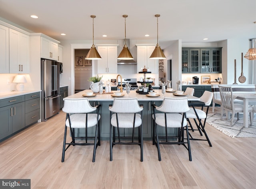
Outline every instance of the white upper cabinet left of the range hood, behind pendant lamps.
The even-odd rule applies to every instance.
[[[117,46],[98,46],[98,74],[117,74]]]

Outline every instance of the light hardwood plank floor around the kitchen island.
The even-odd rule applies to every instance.
[[[218,108],[218,107],[217,107]],[[212,111],[211,109],[209,111]],[[206,125],[212,142],[191,141],[192,161],[181,145],[152,141],[140,147],[102,141],[92,163],[93,146],[71,146],[61,162],[65,114],[36,123],[0,143],[0,178],[31,179],[31,189],[254,189],[256,138],[231,138]],[[197,132],[192,133],[198,135]]]

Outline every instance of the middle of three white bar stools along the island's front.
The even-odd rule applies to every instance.
[[[110,110],[110,161],[112,161],[113,147],[116,144],[140,145],[140,161],[143,161],[143,106],[138,104],[137,98],[114,98]],[[135,128],[138,127],[138,137]],[[120,129],[132,129],[132,137],[120,134]],[[116,136],[116,129],[118,136]],[[112,133],[113,132],[113,133]],[[116,141],[116,139],[118,141]],[[122,141],[121,141],[122,139]],[[134,139],[136,141],[134,141]]]

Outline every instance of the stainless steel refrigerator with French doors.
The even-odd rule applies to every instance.
[[[41,121],[60,111],[60,63],[41,60]]]

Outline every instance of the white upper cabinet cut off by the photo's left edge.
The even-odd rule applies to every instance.
[[[9,73],[9,28],[0,25],[0,74]]]

